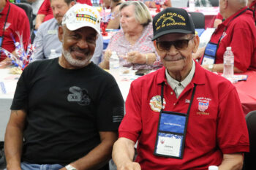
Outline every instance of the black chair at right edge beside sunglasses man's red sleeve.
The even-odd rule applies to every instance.
[[[249,112],[246,117],[249,133],[249,152],[244,154],[244,170],[255,169],[256,158],[256,110]]]

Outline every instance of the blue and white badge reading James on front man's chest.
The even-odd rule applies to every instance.
[[[182,159],[186,132],[187,114],[161,112],[154,155]]]

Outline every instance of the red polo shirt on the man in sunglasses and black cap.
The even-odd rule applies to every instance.
[[[165,82],[164,110],[182,113],[187,113],[192,90],[197,84],[189,112],[183,159],[154,155],[159,112],[151,109],[150,103],[161,95],[162,82]],[[200,101],[208,101],[204,111],[199,107]],[[157,104],[155,102],[156,107]],[[119,137],[138,140],[136,161],[142,169],[206,170],[210,165],[219,166],[223,154],[249,151],[244,112],[236,88],[225,78],[203,69],[199,63],[196,63],[192,82],[178,98],[167,84],[164,67],[133,81],[125,109]]]

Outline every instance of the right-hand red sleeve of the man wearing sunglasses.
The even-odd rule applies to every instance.
[[[217,142],[224,154],[249,152],[249,137],[236,88],[219,101]]]

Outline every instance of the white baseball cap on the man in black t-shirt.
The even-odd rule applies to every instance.
[[[62,25],[66,24],[70,31],[85,26],[94,28],[100,34],[100,16],[96,8],[87,4],[75,4],[62,18]]]

